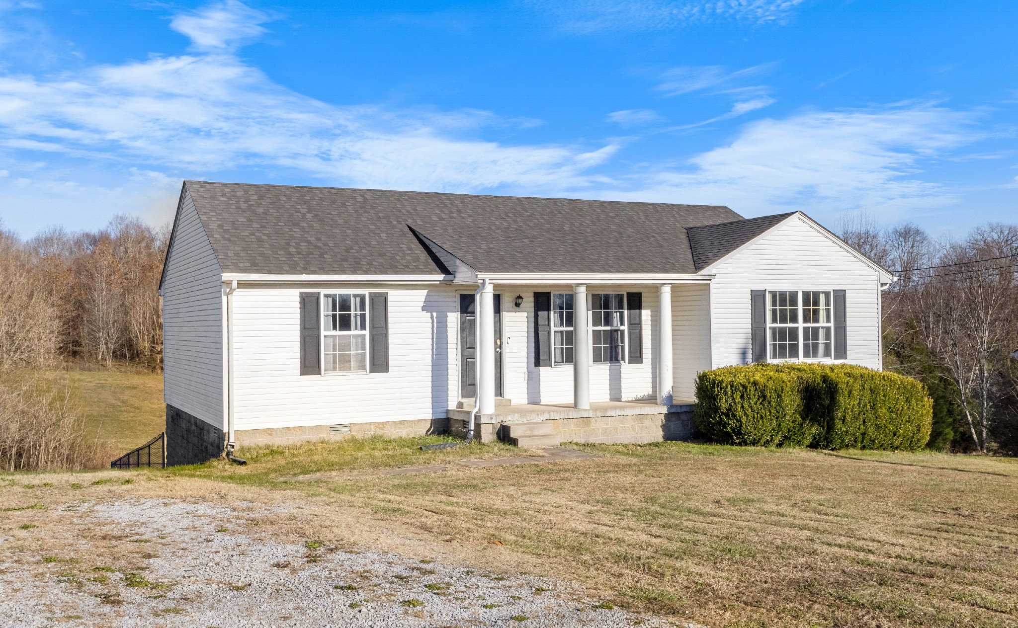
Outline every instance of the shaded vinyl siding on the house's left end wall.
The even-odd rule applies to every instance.
[[[222,271],[190,198],[181,198],[163,280],[163,399],[223,426]]]

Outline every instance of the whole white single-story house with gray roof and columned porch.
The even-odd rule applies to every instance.
[[[880,368],[893,279],[801,212],[185,181],[160,286],[168,455],[471,421],[682,438],[701,370]]]

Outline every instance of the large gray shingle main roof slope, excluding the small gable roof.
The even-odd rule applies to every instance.
[[[693,273],[685,229],[753,222],[724,206],[184,185],[228,273],[445,273],[411,227],[479,272]]]

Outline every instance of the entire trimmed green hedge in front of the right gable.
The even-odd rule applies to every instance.
[[[696,379],[697,432],[719,443],[915,450],[932,401],[919,382],[851,364],[752,364]]]

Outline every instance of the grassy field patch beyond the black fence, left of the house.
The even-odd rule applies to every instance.
[[[163,374],[113,368],[61,372],[84,412],[89,436],[125,454],[166,429]]]

